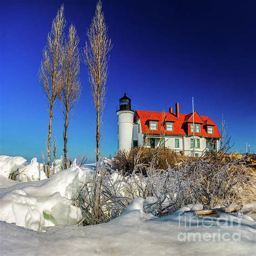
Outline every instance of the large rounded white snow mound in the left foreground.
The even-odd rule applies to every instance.
[[[18,183],[0,194],[0,220],[43,231],[45,227],[76,224],[80,208],[72,205],[89,171],[72,166],[49,179]]]

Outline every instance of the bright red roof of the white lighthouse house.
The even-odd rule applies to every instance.
[[[188,135],[192,136],[193,132],[190,132],[190,123],[193,122],[192,113],[190,114],[179,114],[179,118],[176,117],[176,114],[169,112],[156,112],[156,111],[144,111],[136,110],[134,116],[134,122],[140,119],[142,124],[143,133],[151,134],[173,134],[173,135]],[[149,129],[149,121],[157,121],[157,131],[151,131]],[[173,122],[173,131],[165,130],[165,123]],[[194,123],[200,124],[200,133],[195,132],[196,136],[211,137],[211,138],[220,138],[220,133],[217,125],[213,122],[210,117],[199,116],[199,114],[194,112]],[[207,126],[213,126],[213,134],[207,133]]]

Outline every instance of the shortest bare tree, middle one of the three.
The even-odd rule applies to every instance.
[[[74,25],[69,28],[68,40],[65,41],[63,58],[63,87],[59,98],[62,101],[62,112],[64,114],[64,167],[68,166],[68,125],[70,121],[70,111],[78,100],[81,92],[79,81],[80,56],[79,56],[79,37]]]

